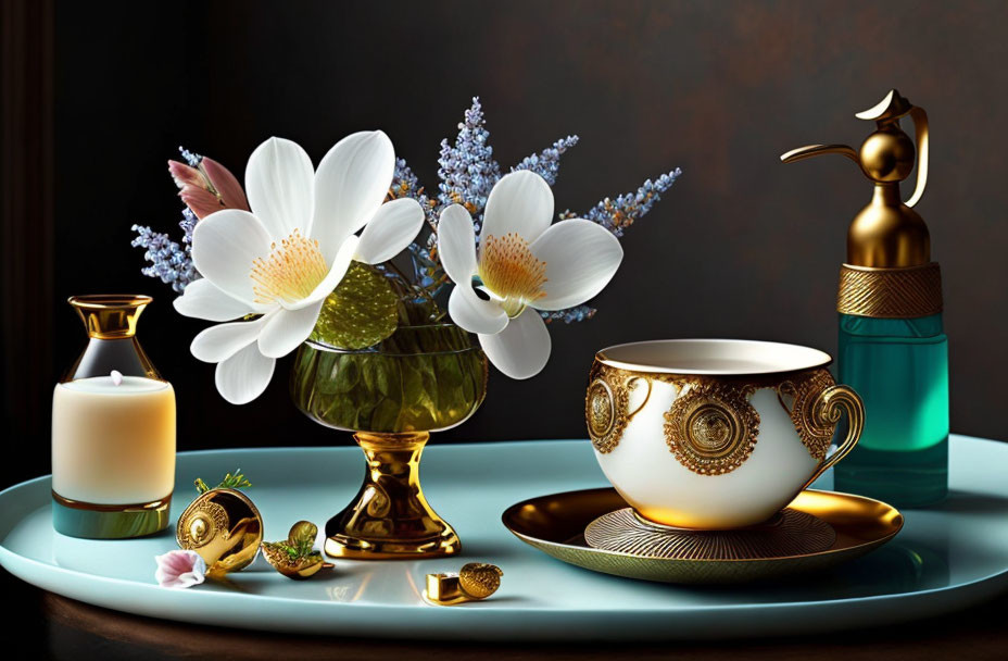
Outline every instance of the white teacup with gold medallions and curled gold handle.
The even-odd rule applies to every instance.
[[[860,398],[818,349],[734,339],[618,345],[595,354],[585,398],[595,457],[650,521],[761,523],[857,444]],[[841,412],[847,437],[827,457]]]

